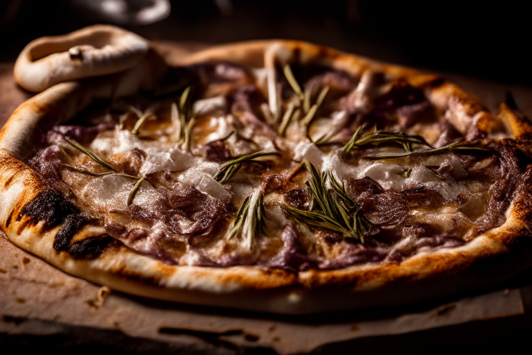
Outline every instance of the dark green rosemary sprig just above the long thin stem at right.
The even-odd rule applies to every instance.
[[[400,132],[389,132],[384,130],[373,130],[373,133],[361,137],[362,131],[364,131],[365,126],[361,125],[353,137],[344,145],[344,153],[351,153],[351,151],[362,148],[364,146],[378,146],[380,144],[400,144],[405,151],[411,152],[412,144],[420,146],[430,145],[419,136],[409,136]]]

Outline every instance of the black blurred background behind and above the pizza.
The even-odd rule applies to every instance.
[[[0,61],[14,61],[36,37],[107,22],[74,2],[0,1]],[[266,38],[306,40],[431,71],[532,85],[529,12],[524,2],[496,3],[171,1],[166,19],[122,26],[149,40],[213,44]]]

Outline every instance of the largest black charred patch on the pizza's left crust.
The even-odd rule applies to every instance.
[[[80,210],[67,201],[57,190],[44,190],[28,202],[20,211],[17,220],[22,216],[28,216],[31,223],[39,223],[44,220],[46,229],[56,227],[64,222],[71,214],[79,214]]]

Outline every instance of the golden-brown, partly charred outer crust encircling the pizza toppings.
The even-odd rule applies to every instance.
[[[206,60],[231,60],[238,64],[265,65],[310,62],[335,67],[360,76],[370,69],[404,77],[423,87],[429,100],[447,110],[452,102],[461,115],[452,124],[465,137],[490,132],[493,119],[468,94],[436,76],[380,64],[296,41],[259,41],[215,47],[180,60],[192,64]],[[139,75],[142,73],[142,75]],[[370,306],[391,306],[451,295],[511,277],[532,265],[532,168],[526,166],[526,188],[521,188],[506,213],[506,222],[456,248],[423,251],[400,263],[363,263],[338,270],[289,272],[277,268],[230,266],[213,268],[171,266],[109,242],[95,258],[53,248],[56,236],[68,229],[68,207],[47,196],[50,187],[26,159],[33,137],[71,119],[90,103],[136,92],[154,82],[149,62],[104,78],[57,84],[23,103],[0,132],[0,225],[8,239],[52,265],[114,290],[161,300],[226,306],[271,313],[316,313]],[[127,83],[127,85],[125,85]],[[506,106],[505,106],[506,107]],[[504,108],[504,107],[503,107]],[[528,144],[530,125],[506,107],[504,122],[516,139]],[[49,195],[49,194],[48,194]],[[59,210],[64,212],[60,215]],[[68,211],[67,211],[68,212]],[[54,219],[55,218],[55,219]],[[73,236],[84,241],[105,234],[98,225],[85,225]],[[78,247],[83,248],[83,245]],[[85,245],[86,247],[87,245]],[[74,250],[74,252],[72,252]],[[78,248],[79,250],[79,248]],[[90,254],[91,250],[89,250]],[[94,252],[94,250],[92,250]],[[77,257],[76,257],[77,255]],[[393,296],[391,296],[393,295]]]

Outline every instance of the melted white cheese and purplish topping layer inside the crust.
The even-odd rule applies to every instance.
[[[188,150],[172,121],[179,92],[171,98],[139,95],[86,112],[47,132],[29,159],[85,218],[98,221],[127,248],[173,265],[335,269],[454,248],[504,223],[508,205],[494,184],[516,164],[493,153],[504,147],[377,160],[366,156],[405,150],[384,144],[344,152],[344,144],[362,125],[368,127],[365,134],[375,125],[419,135],[434,148],[463,140],[447,117],[464,113],[452,107],[441,111],[422,89],[369,71],[359,80],[336,69],[294,67],[312,102],[323,87],[328,92],[310,124],[303,124],[302,114],[280,132],[282,115],[276,118],[269,109],[264,69],[227,62],[185,69],[194,89],[190,111],[195,124]],[[281,71],[276,76],[277,103],[287,112],[294,89]],[[151,117],[136,134],[132,130],[140,117],[131,106]],[[317,144],[326,134],[326,144]],[[109,173],[65,138],[120,173]],[[229,181],[217,181],[225,162],[259,151],[278,155],[242,164]],[[286,213],[283,206],[303,211],[312,207],[305,185],[310,175],[301,162],[322,174],[332,173],[351,193],[369,222],[364,241],[305,225]],[[139,180],[125,175],[146,178],[129,204]],[[233,235],[240,205],[247,197],[258,198],[257,191],[264,198],[263,232]]]

